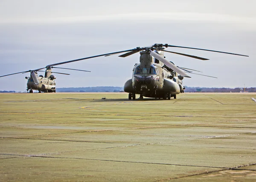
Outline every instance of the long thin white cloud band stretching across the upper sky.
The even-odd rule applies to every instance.
[[[255,26],[253,17],[238,17],[229,14],[192,13],[192,12],[152,12],[152,13],[128,13],[93,16],[70,17],[29,17],[20,19],[0,19],[0,23],[87,23],[105,21],[194,21],[212,23],[250,23]]]

